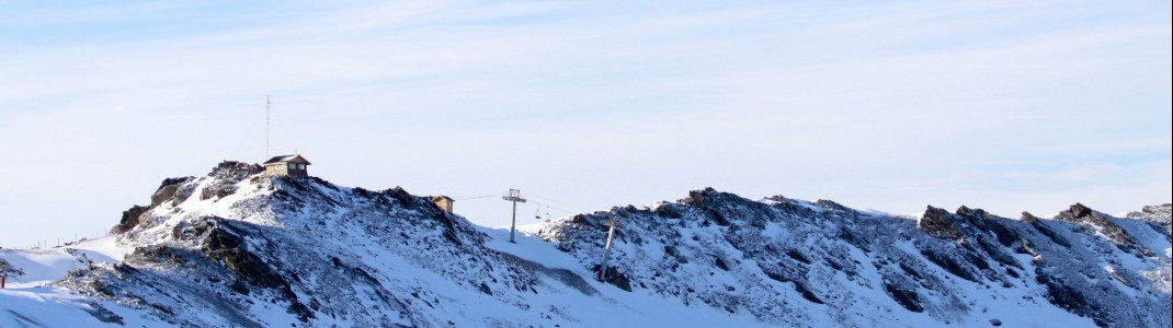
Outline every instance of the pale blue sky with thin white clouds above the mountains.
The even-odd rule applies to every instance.
[[[0,1],[0,246],[299,152],[518,224],[706,186],[1017,218],[1169,203],[1168,1]],[[547,214],[549,213],[549,214]],[[538,218],[541,217],[541,218]]]

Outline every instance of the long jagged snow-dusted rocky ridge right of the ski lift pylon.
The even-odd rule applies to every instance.
[[[555,220],[540,235],[597,268],[603,223],[618,218],[611,264],[632,293],[782,326],[808,326],[812,317],[900,326],[900,313],[940,324],[1015,317],[1029,326],[1022,308],[1083,316],[1089,326],[1169,324],[1169,258],[1153,252],[1168,240],[1083,205],[1067,213],[1017,220],[929,206],[913,221],[828,200],[752,201],[706,189],[650,209]]]

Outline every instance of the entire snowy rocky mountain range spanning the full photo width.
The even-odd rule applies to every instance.
[[[0,326],[1168,327],[1169,234],[1150,220],[1079,204],[908,218],[708,189],[510,244],[401,189],[224,162],[164,180],[110,238],[0,253],[40,272],[0,291]]]

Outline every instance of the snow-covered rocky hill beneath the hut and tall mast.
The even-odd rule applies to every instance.
[[[49,251],[55,271],[75,269],[48,286],[0,292],[9,310],[0,326],[760,324],[584,279],[589,272],[549,242],[502,241],[508,231],[474,226],[401,189],[260,171],[225,162],[206,177],[164,180],[114,227],[117,250],[104,254],[124,259],[70,262],[76,252]],[[38,262],[36,252],[5,257]]]

